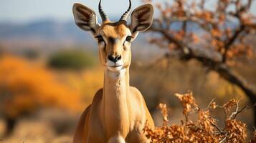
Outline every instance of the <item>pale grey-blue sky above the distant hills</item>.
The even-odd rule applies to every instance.
[[[98,14],[99,0],[0,0],[0,21],[27,22],[38,19],[68,21],[72,19],[72,5],[76,2],[94,9]],[[140,4],[141,0],[132,0],[133,9]],[[111,19],[111,16],[121,16],[126,11],[128,0],[103,0],[102,5]],[[256,1],[253,2],[251,11],[256,14]]]

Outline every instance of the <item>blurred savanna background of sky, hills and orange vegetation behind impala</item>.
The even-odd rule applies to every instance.
[[[103,68],[99,64],[97,42],[90,33],[75,26],[72,17],[72,4],[75,2],[91,7],[98,14],[98,1],[95,0],[0,1],[0,142],[72,142],[72,134],[80,114],[91,103],[95,92],[103,87]],[[133,9],[143,2],[145,1],[133,0]],[[163,26],[159,26],[159,21],[163,24],[168,22],[167,18],[181,16],[178,13],[178,16],[175,15],[175,9],[167,11],[168,6],[175,8],[171,6],[176,6],[176,3],[179,7],[179,1],[149,2],[156,6],[155,17],[158,18],[155,19],[153,28],[163,29]],[[189,1],[183,2],[191,4]],[[214,19],[212,7],[218,7],[218,4],[217,0],[205,4],[205,9],[212,11],[209,19]],[[235,6],[225,9],[232,11],[236,9]],[[255,24],[255,7],[256,3],[252,2],[248,10],[244,11],[250,14],[247,19],[252,24]],[[117,21],[127,8],[126,0],[103,1],[103,9],[113,21]],[[207,19],[207,16],[202,16],[202,19]],[[213,23],[202,23],[204,22]],[[229,21],[229,26],[220,24],[219,31],[228,27],[231,34],[236,34],[237,27],[240,26],[238,23],[241,24],[241,21]],[[247,23],[242,22],[244,26]],[[181,36],[180,41],[198,47],[195,49],[207,47],[217,51],[217,54],[223,54],[222,49],[216,49],[214,44],[213,48],[202,48],[202,45],[207,44],[208,36],[195,24],[186,24],[189,25],[186,29],[191,31],[189,37],[193,37],[194,41],[189,41],[188,35],[180,33],[184,23],[168,25],[173,29],[169,34],[175,35],[176,39]],[[250,29],[255,29],[253,26]],[[214,26],[211,27],[214,29]],[[171,124],[179,124],[184,119],[182,106],[174,96],[175,93],[193,92],[196,102],[202,108],[207,108],[212,99],[218,104],[224,104],[232,98],[242,99],[241,107],[250,104],[253,98],[247,98],[245,89],[232,83],[231,79],[224,77],[205,61],[187,57],[184,60],[185,56],[177,56],[179,44],[162,34],[156,29],[139,34],[132,45],[130,71],[131,86],[141,91],[157,125],[161,124],[161,113],[157,108],[159,103],[166,103],[170,107]],[[212,34],[218,38],[216,32]],[[218,40],[222,41],[220,36]],[[234,47],[230,48],[236,51],[240,48],[245,53],[237,51],[239,54],[234,54],[235,50],[227,52],[229,60],[222,64],[234,71],[235,75],[243,77],[247,84],[252,85],[248,89],[255,91],[255,33],[250,31],[246,36],[247,39],[243,41],[234,40]],[[228,39],[229,36],[224,37],[223,41],[225,38]],[[250,47],[241,49],[236,44]],[[230,53],[234,56],[230,56]],[[214,55],[214,52],[207,51],[207,54]],[[219,62],[214,60],[213,63]],[[223,124],[224,111],[216,110],[213,114],[219,119],[219,124]],[[237,118],[245,122],[248,129],[253,129],[255,119],[252,109],[246,109]]]

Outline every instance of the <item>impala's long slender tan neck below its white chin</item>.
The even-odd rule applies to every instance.
[[[129,69],[105,69],[103,87],[103,124],[108,137],[126,136],[129,131]]]

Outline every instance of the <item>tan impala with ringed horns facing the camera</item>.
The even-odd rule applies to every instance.
[[[98,24],[95,11],[82,4],[74,4],[75,23],[90,31],[98,40],[100,62],[104,67],[104,84],[85,112],[75,131],[74,143],[149,142],[143,128],[146,122],[154,127],[151,114],[141,92],[129,84],[131,42],[138,32],[152,24],[153,6],[145,4],[131,14],[129,8],[120,20],[110,21],[104,13],[101,0],[98,6],[103,24]]]

